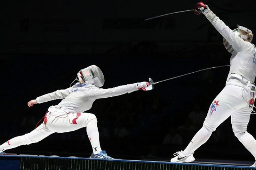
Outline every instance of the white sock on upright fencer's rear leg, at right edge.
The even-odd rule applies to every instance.
[[[252,153],[256,160],[256,140],[248,132],[242,133],[237,136],[238,140],[244,145],[244,147]]]

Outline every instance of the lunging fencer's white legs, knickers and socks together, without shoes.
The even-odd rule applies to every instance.
[[[14,137],[0,145],[0,151],[20,145],[36,143],[54,132],[63,133],[87,127],[87,134],[93,147],[100,148],[97,118],[91,113],[69,113],[60,106],[51,106],[44,116],[44,122],[36,129],[22,136]],[[93,136],[93,137],[91,137]]]

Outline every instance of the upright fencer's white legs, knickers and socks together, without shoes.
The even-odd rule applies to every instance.
[[[195,152],[210,138],[212,132],[231,115],[235,136],[256,159],[256,140],[246,131],[252,111],[249,103],[254,101],[254,98],[254,84],[250,82],[242,84],[237,79],[229,80],[224,89],[212,101],[203,127],[192,138],[183,153]]]

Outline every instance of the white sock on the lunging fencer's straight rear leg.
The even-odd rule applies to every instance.
[[[0,152],[4,152],[7,149],[12,149],[16,148],[20,145],[25,144],[25,139],[24,135],[18,136],[18,137],[13,137],[12,139],[8,140],[7,142],[4,142],[3,144],[0,145]]]

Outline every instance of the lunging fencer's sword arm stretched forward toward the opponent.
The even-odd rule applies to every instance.
[[[148,87],[148,85],[149,85],[148,82],[140,82],[140,83],[133,83],[129,85],[121,85],[121,86],[117,86],[109,89],[94,88],[90,91],[90,94],[88,96],[92,97],[93,99],[119,96],[125,93],[131,93],[137,90],[145,91],[145,88]]]

